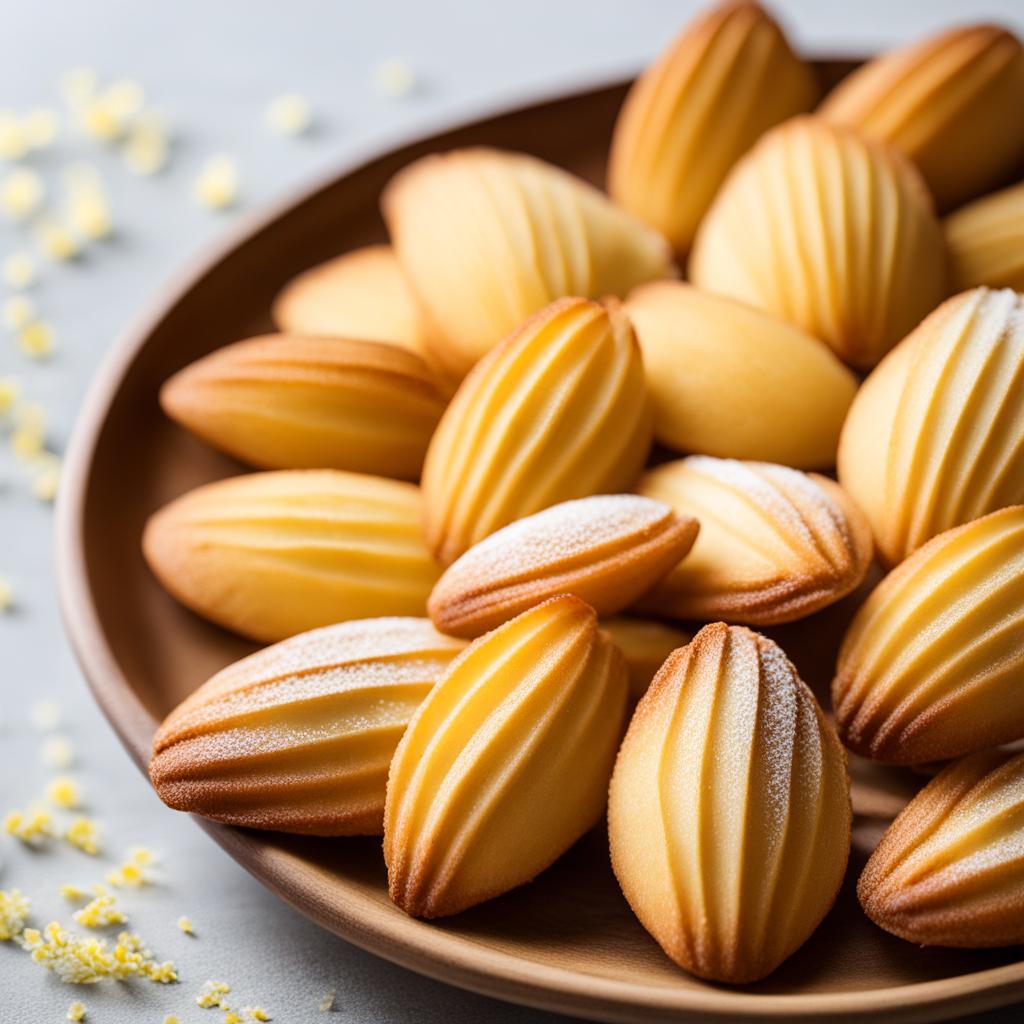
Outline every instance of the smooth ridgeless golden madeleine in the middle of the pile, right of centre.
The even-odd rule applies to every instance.
[[[835,465],[857,379],[816,338],[678,282],[642,285],[626,311],[663,444],[806,469]]]

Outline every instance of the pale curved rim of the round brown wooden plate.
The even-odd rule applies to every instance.
[[[622,87],[628,81],[621,76],[599,77],[570,88],[530,90],[515,101],[433,118],[426,128],[401,131],[393,138],[356,147],[344,161],[286,196],[243,214],[213,242],[201,246],[103,354],[76,417],[65,458],[56,507],[57,594],[65,631],[92,696],[143,775],[148,743],[141,743],[138,737],[152,735],[157,722],[135,695],[102,630],[89,586],[83,535],[92,464],[110,408],[151,335],[195,287],[238,249],[272,228],[303,203],[337,187],[375,161],[429,143],[449,132],[472,130],[548,103],[582,99]],[[413,919],[368,926],[358,903],[352,909],[346,906],[328,914],[323,904],[311,898],[313,894],[295,885],[286,870],[290,855],[268,850],[255,838],[256,834],[193,817],[260,884],[327,931],[427,977],[536,1009],[622,1024],[669,1016],[678,1020],[690,1015],[736,1020],[864,1021],[880,1012],[887,1012],[890,1020],[913,1024],[994,1009],[1024,997],[1024,959],[950,978],[867,991],[769,994],[710,985],[696,989],[635,986],[500,952]]]

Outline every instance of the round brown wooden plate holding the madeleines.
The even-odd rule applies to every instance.
[[[821,68],[831,76],[843,70]],[[67,462],[60,590],[93,693],[140,768],[158,719],[251,649],[178,606],[139,554],[151,512],[189,487],[241,471],[164,419],[161,382],[206,352],[265,330],[272,296],[299,270],[383,239],[377,197],[417,157],[498,145],[599,180],[624,90],[617,84],[516,110],[344,171],[248,224],[111,353]],[[827,683],[850,604],[778,631],[812,685]],[[766,981],[742,989],[700,982],[665,957],[618,892],[602,831],[534,884],[427,925],[388,902],[379,840],[298,839],[201,823],[264,885],[330,931],[413,970],[535,1007],[604,1021],[691,1015],[852,1021],[874,1014],[931,1021],[1024,996],[1019,950],[919,949],[860,912],[853,880],[920,778],[852,767],[857,813],[848,884],[804,948]]]

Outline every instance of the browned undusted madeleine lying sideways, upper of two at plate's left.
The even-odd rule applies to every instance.
[[[160,401],[173,420],[252,466],[404,480],[419,478],[445,406],[413,352],[295,335],[218,349],[170,378]]]

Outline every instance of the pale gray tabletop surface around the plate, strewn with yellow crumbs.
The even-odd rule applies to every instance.
[[[233,215],[198,208],[189,189],[202,161],[232,154],[242,173],[241,212],[258,208],[355,150],[389,144],[522,97],[601,81],[650,58],[695,8],[682,0],[518,0],[498,5],[433,2],[242,2],[139,0],[5,3],[0,31],[0,108],[56,105],[55,82],[74,66],[103,77],[136,78],[175,126],[167,173],[136,179],[89,143],[61,141],[39,167],[48,177],[88,156],[113,195],[117,239],[76,265],[45,267],[35,297],[56,329],[57,351],[30,364],[0,334],[0,375],[17,374],[27,396],[51,416],[63,446],[98,360],[176,268],[186,265]],[[817,53],[867,52],[950,20],[999,17],[1024,27],[1024,3],[918,0],[857,3],[788,0],[774,5],[794,38]],[[372,69],[385,57],[410,62],[422,90],[396,101],[375,93]],[[321,129],[282,139],[263,123],[267,101],[299,91]],[[20,248],[0,224],[0,258]],[[82,998],[95,1024],[216,1021],[194,998],[207,978],[229,982],[234,1002],[262,1004],[281,1022],[541,1022],[558,1018],[478,997],[417,977],[321,932],[251,880],[185,816],[165,810],[130,765],[92,705],[61,631],[53,586],[52,512],[28,493],[20,469],[0,454],[0,577],[18,606],[0,616],[0,814],[37,797],[52,772],[40,760],[43,737],[29,724],[32,700],[63,711],[61,732],[78,756],[73,773],[89,812],[101,820],[110,854],[100,862],[65,847],[32,853],[0,839],[0,888],[35,899],[37,922],[71,908],[63,882],[89,883],[127,847],[161,855],[160,882],[129,892],[133,927],[161,958],[176,961],[182,983],[104,984],[72,989],[17,949],[0,944],[0,1024],[58,1022]],[[189,914],[198,936],[175,922]],[[337,991],[334,1016],[317,1004]],[[988,1021],[1019,1020],[1021,1012]]]

